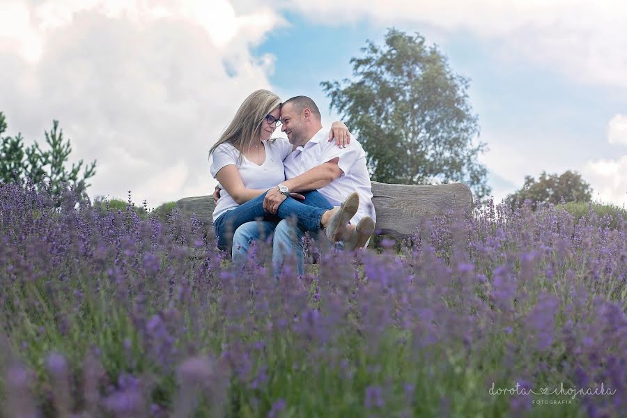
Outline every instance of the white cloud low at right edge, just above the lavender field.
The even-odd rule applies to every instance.
[[[587,162],[582,175],[589,179],[595,200],[627,208],[627,154],[616,160]]]

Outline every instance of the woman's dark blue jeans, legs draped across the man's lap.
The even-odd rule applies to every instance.
[[[242,203],[235,209],[224,212],[215,220],[214,228],[219,249],[228,250],[231,247],[231,237],[234,231],[243,224],[258,219],[274,221],[278,224],[281,219],[295,216],[297,225],[304,231],[318,232],[323,213],[333,208],[325,196],[317,190],[312,190],[303,193],[304,201],[288,197],[279,205],[277,215],[272,215],[263,210],[263,199],[265,199],[266,193],[268,192]]]

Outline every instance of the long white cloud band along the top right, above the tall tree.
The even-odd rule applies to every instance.
[[[270,3],[270,2],[269,2]],[[284,2],[311,20],[427,24],[495,41],[508,60],[525,59],[591,84],[627,88],[627,3],[612,0],[308,0]]]

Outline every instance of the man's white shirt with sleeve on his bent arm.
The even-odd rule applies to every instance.
[[[372,204],[372,191],[370,175],[366,166],[366,152],[362,145],[350,138],[350,144],[346,148],[339,148],[335,140],[329,142],[327,134],[329,130],[318,131],[314,138],[304,146],[298,146],[284,160],[285,178],[290,179],[300,176],[305,171],[329,162],[339,157],[338,167],[343,175],[333,180],[329,185],[318,189],[333,206],[340,206],[346,196],[352,192],[359,194],[359,209],[351,224],[357,224],[359,219],[368,215],[376,222],[376,214]]]

